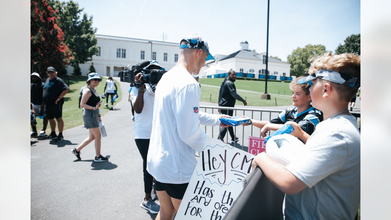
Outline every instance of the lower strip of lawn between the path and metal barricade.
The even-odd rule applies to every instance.
[[[238,86],[236,86],[238,88]],[[206,87],[201,85],[201,98],[200,101],[218,103],[219,90],[216,87]],[[292,105],[292,98],[289,96],[270,95],[270,100],[261,99],[260,93],[242,92],[238,91],[238,94],[247,101],[249,106],[286,106]],[[277,101],[277,105],[276,105]],[[237,105],[243,105],[242,102],[236,101]]]

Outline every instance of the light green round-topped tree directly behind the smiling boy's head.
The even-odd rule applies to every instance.
[[[302,76],[310,68],[310,59],[314,56],[325,54],[324,45],[308,44],[304,48],[298,47],[288,55],[288,63],[291,64],[291,76]]]

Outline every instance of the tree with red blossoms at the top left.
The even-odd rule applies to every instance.
[[[74,59],[64,42],[64,32],[57,25],[57,13],[47,0],[31,0],[31,71],[45,76],[47,67],[66,74],[66,65]]]

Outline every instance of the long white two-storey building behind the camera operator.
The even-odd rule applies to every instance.
[[[136,65],[146,60],[157,60],[162,67],[170,70],[179,56],[179,42],[170,43],[136,38],[124,38],[95,34],[98,39],[98,54],[92,61],[80,64],[82,75],[88,75],[91,62],[100,76],[118,76],[124,66]],[[68,66],[68,74],[73,68]]]

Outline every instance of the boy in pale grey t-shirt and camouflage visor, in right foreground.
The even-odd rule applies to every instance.
[[[330,52],[312,59],[308,83],[312,105],[324,121],[312,135],[292,121],[291,135],[305,142],[290,164],[258,154],[259,166],[285,195],[283,219],[354,219],[360,203],[360,131],[347,109],[360,86],[360,56]]]

